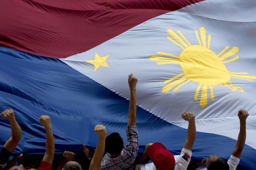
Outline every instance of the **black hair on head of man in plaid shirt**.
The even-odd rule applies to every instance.
[[[106,137],[105,150],[111,155],[117,155],[122,152],[124,141],[119,133],[111,133]]]

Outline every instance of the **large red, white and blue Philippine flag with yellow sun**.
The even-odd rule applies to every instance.
[[[256,1],[95,0],[0,2],[0,110],[22,128],[14,153],[45,152],[40,115],[56,153],[97,144],[106,126],[126,138],[130,73],[138,78],[139,145],[177,154],[196,115],[193,159],[228,159],[249,112],[239,167],[256,169]],[[10,125],[0,120],[0,147]]]

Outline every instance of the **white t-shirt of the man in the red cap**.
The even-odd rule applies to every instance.
[[[191,159],[192,152],[189,149],[183,148],[180,155],[174,155],[175,165],[174,170],[186,170]],[[135,166],[135,170],[156,170],[154,163],[139,164]]]

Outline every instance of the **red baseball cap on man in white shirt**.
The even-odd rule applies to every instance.
[[[175,166],[173,154],[161,143],[154,143],[147,150],[148,158],[161,170],[170,170]]]

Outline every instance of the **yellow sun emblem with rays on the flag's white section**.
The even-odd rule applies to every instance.
[[[241,87],[230,82],[231,77],[248,81],[256,79],[255,76],[245,75],[248,74],[246,72],[240,73],[228,71],[224,63],[235,61],[239,58],[239,56],[229,58],[238,52],[238,47],[233,47],[227,51],[229,46],[226,46],[219,54],[216,55],[212,50],[210,50],[210,34],[208,34],[206,43],[206,30],[204,27],[200,28],[201,40],[197,30],[195,31],[199,45],[191,45],[180,31],[177,31],[177,33],[183,39],[173,30],[168,29],[167,33],[170,34],[176,41],[168,36],[167,40],[182,48],[183,51],[179,56],[158,51],[156,54],[172,58],[151,56],[149,59],[153,61],[162,61],[157,62],[158,65],[179,63],[183,72],[164,81],[164,84],[167,85],[163,87],[162,93],[167,93],[174,87],[175,88],[172,92],[176,92],[181,86],[185,85],[189,81],[193,81],[199,84],[196,89],[194,99],[197,101],[199,92],[201,91],[200,106],[201,108],[204,108],[207,105],[208,87],[210,89],[212,101],[214,100],[212,86],[225,85],[233,91],[238,90],[245,92]],[[185,40],[185,42],[183,40]]]

